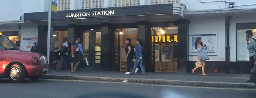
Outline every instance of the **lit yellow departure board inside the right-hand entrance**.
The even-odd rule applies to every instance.
[[[155,40],[154,40],[155,37]],[[151,36],[151,42],[178,42],[178,35]]]

